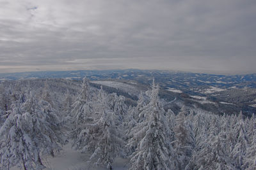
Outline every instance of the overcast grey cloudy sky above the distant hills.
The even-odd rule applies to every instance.
[[[256,73],[255,0],[0,0],[0,73]]]

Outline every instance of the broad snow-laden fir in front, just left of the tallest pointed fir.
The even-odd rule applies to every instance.
[[[120,132],[113,122],[113,113],[104,111],[95,124],[87,125],[84,132],[85,143],[82,151],[92,153],[90,160],[98,165],[112,164],[115,157],[122,153],[125,142],[120,138]],[[80,136],[79,136],[80,138]],[[82,138],[81,138],[82,139]],[[83,140],[82,139],[82,140]]]

